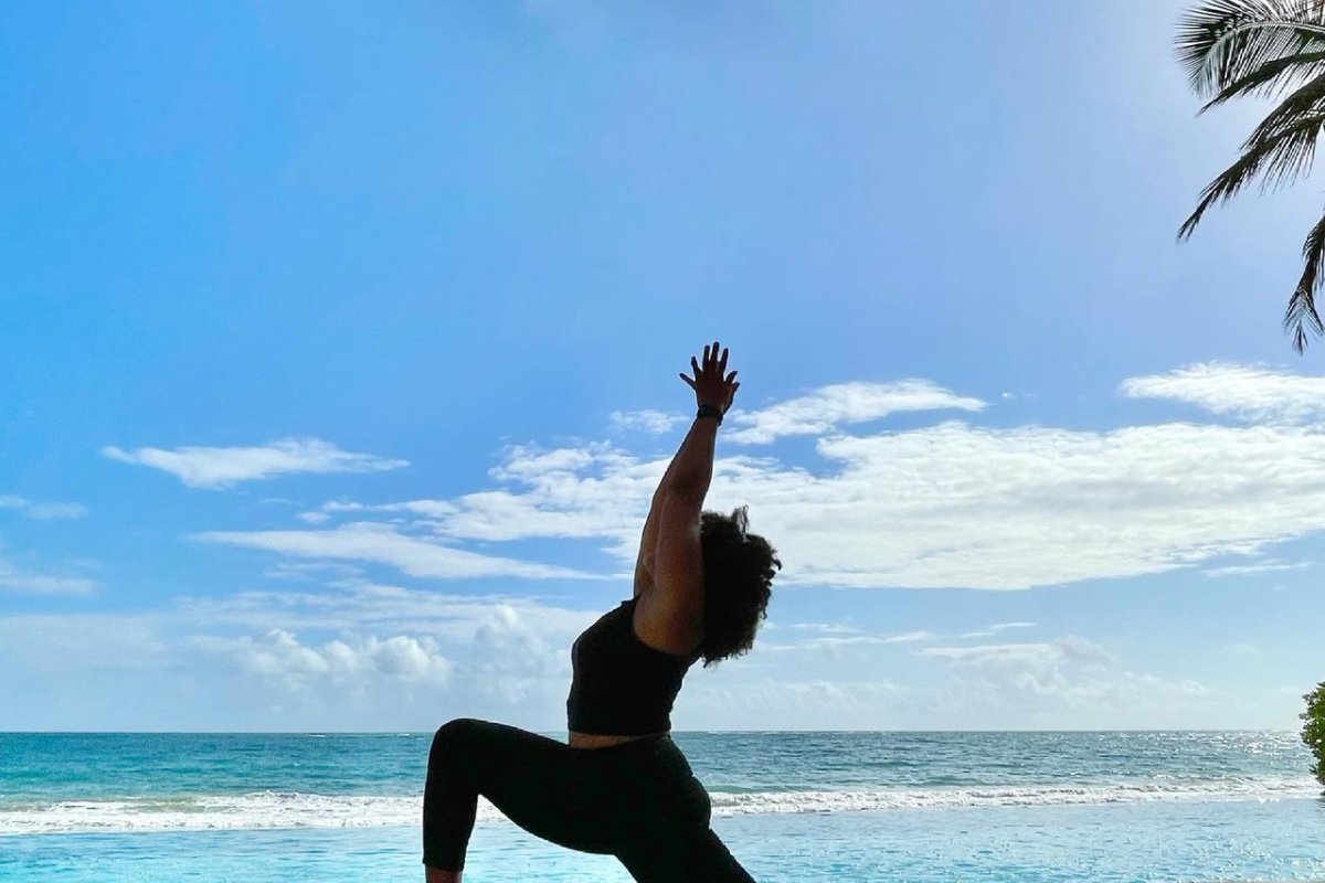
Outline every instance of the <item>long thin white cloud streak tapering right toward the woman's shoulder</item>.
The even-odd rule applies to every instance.
[[[208,531],[192,539],[209,543],[249,545],[282,555],[311,559],[341,559],[390,564],[409,576],[436,579],[477,579],[513,576],[529,580],[606,579],[551,564],[530,564],[407,536],[394,527],[375,523],[344,524],[334,531]]]

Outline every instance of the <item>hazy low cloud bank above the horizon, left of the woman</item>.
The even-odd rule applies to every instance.
[[[425,729],[447,708],[547,727],[564,715],[571,642],[602,613],[343,580],[123,616],[0,616],[0,670],[44,684],[25,725],[125,728],[123,707],[151,707],[167,729]],[[129,702],[135,688],[151,696]],[[81,711],[61,718],[70,703]]]

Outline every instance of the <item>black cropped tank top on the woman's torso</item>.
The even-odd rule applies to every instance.
[[[582,733],[644,736],[672,729],[672,703],[700,658],[664,653],[635,634],[635,598],[621,601],[571,645],[568,728]]]

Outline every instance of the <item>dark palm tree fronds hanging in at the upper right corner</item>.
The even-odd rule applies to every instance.
[[[1325,126],[1325,0],[1206,0],[1178,23],[1178,60],[1200,113],[1238,95],[1283,97],[1252,131],[1242,156],[1200,193],[1178,238],[1191,236],[1215,203],[1230,200],[1261,176],[1261,192],[1297,180],[1310,168]],[[1316,290],[1325,281],[1325,217],[1302,245],[1304,269],[1284,314],[1298,353],[1306,330],[1325,334]]]

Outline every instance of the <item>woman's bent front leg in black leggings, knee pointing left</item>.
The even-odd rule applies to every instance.
[[[473,718],[444,724],[428,755],[424,864],[464,868],[480,794],[531,834],[582,853],[611,854],[628,805],[611,759],[623,757],[631,745],[571,748]]]

